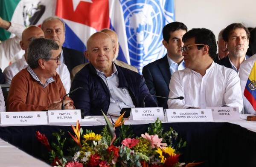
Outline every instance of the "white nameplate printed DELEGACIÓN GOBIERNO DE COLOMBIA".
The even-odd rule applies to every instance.
[[[166,122],[213,122],[211,109],[166,109]]]

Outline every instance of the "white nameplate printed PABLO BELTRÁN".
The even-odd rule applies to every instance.
[[[81,110],[48,110],[49,123],[81,122]]]

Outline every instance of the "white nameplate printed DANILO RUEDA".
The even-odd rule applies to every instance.
[[[209,107],[212,110],[213,119],[239,119],[238,107]]]

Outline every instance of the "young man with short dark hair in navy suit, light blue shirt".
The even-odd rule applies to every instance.
[[[164,26],[163,45],[167,54],[146,65],[142,71],[151,95],[168,97],[172,74],[185,68],[180,48],[183,47],[182,37],[186,31],[186,25],[180,22]],[[159,107],[168,108],[167,99],[157,98],[157,102]]]

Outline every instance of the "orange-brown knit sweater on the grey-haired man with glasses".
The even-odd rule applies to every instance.
[[[66,94],[59,75],[43,88],[27,71],[21,70],[11,82],[7,98],[7,111],[41,111],[47,110],[52,102],[62,99]],[[66,100],[70,99],[66,97]],[[71,100],[70,105],[73,105]],[[75,108],[75,107],[74,107]]]

